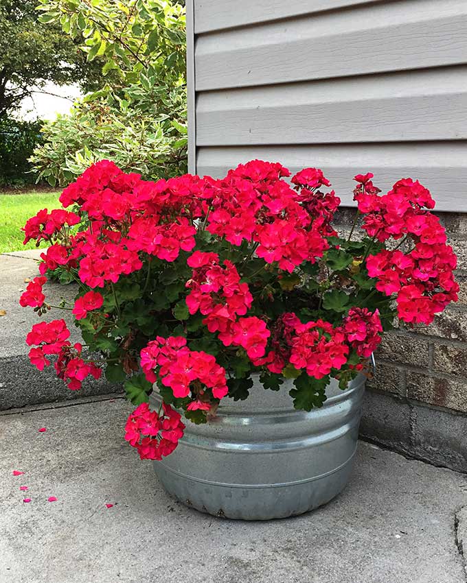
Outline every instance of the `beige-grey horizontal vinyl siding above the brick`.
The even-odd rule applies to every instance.
[[[192,171],[317,166],[346,204],[411,176],[467,211],[467,0],[192,2]]]

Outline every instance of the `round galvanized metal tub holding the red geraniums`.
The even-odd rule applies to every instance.
[[[167,492],[196,510],[229,519],[268,520],[308,512],[347,484],[356,451],[365,377],[311,412],[293,409],[285,381],[265,390],[256,379],[246,401],[225,398],[204,425],[185,420],[177,449],[155,463]],[[158,407],[160,397],[152,396]]]

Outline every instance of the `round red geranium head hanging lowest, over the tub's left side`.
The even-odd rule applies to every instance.
[[[148,403],[141,403],[126,421],[125,439],[137,449],[141,460],[161,460],[174,451],[183,437],[181,415],[166,403],[162,408],[159,416]]]

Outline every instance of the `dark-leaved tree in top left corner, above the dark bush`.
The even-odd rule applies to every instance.
[[[0,117],[47,82],[95,86],[98,67],[59,25],[41,23],[35,6],[36,0],[0,0]]]

